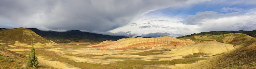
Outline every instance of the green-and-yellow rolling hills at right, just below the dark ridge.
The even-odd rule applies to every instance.
[[[195,36],[185,37],[180,39],[191,39],[196,43],[203,40],[216,40],[221,43],[236,44],[241,42],[243,39],[247,39],[247,38],[253,38],[253,37],[246,34],[242,34],[242,33],[229,33],[229,34],[221,34],[221,35],[195,35]]]

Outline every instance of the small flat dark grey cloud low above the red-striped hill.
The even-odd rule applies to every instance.
[[[160,37],[160,36],[169,36],[171,35],[170,33],[167,32],[156,32],[156,33],[148,33],[148,34],[142,34],[141,37]]]

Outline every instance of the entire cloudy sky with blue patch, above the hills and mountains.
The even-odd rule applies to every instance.
[[[179,37],[256,29],[256,0],[0,0],[0,27]]]

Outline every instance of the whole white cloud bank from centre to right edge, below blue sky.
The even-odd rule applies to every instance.
[[[190,35],[193,33],[209,31],[252,31],[256,29],[255,9],[246,11],[247,13],[218,13],[213,11],[198,12],[188,17],[180,16],[145,16],[136,21],[137,25],[127,24],[123,27],[116,28],[116,31],[131,31],[131,33],[146,36],[155,33],[170,33],[170,37]],[[150,24],[148,24],[150,22]],[[147,36],[148,36],[147,35]]]

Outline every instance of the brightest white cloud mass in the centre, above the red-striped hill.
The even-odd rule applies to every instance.
[[[135,26],[130,26],[132,23],[136,23]],[[199,28],[197,25],[186,25],[180,22],[180,17],[178,16],[145,16],[142,17],[131,24],[127,24],[123,27],[116,28],[111,32],[118,31],[131,31],[131,33],[138,34],[137,36],[143,37],[159,37],[161,33],[168,33],[170,37],[179,37],[182,35],[188,35],[193,33],[199,33]],[[148,24],[150,22],[150,24]],[[146,34],[145,34],[146,33]],[[150,34],[149,34],[150,33]],[[159,35],[156,35],[159,34]],[[149,36],[150,35],[150,36]],[[163,35],[162,35],[163,36]]]

